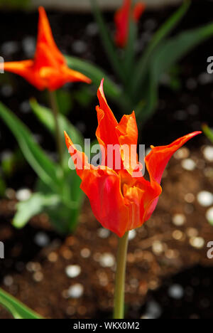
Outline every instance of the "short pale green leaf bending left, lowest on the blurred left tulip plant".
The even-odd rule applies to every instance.
[[[33,216],[42,213],[47,207],[58,206],[59,202],[60,197],[56,194],[32,194],[30,199],[17,203],[17,212],[13,218],[13,226],[23,228]]]

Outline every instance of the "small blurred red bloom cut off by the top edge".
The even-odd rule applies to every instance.
[[[139,2],[133,9],[131,8],[131,0],[124,0],[123,6],[116,11],[114,16],[114,21],[116,24],[116,35],[115,42],[116,45],[124,48],[129,38],[129,20],[133,19],[136,23],[141,18],[143,11],[145,10],[146,5]]]

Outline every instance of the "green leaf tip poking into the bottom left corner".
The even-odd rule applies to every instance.
[[[43,319],[39,314],[23,305],[15,297],[0,288],[0,304],[11,314],[14,319]]]

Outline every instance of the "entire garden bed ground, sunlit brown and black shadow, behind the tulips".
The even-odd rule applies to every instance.
[[[202,16],[199,4],[195,1],[192,5],[180,25],[181,30],[206,23],[208,18],[212,20],[213,4],[202,1]],[[141,20],[141,43],[148,41],[148,36],[171,11],[145,14]],[[0,42],[1,53],[4,51],[6,55],[5,50],[8,50],[5,60],[27,58],[26,53],[30,53],[31,48],[27,50],[26,44],[33,46],[37,17],[37,14],[2,14],[0,26],[5,33]],[[62,51],[111,70],[99,48],[92,16],[51,12],[49,17]],[[111,26],[111,14],[107,14],[107,19]],[[9,30],[5,30],[8,24]],[[13,41],[15,37],[17,42]],[[11,45],[6,45],[6,41],[12,41]],[[183,134],[199,130],[202,122],[212,125],[212,77],[206,71],[211,49],[212,41],[208,41],[182,60],[175,72],[173,89],[168,85],[168,78],[164,78],[158,112],[143,127],[142,139],[147,147],[168,144]],[[46,150],[53,152],[52,138],[35,121],[27,104],[28,98],[34,96],[45,102],[45,94],[40,97],[22,78],[14,75],[5,78],[1,85],[2,102],[31,127]],[[80,85],[75,86],[76,91],[78,88]],[[67,91],[73,92],[72,86],[67,87]],[[83,130],[85,137],[93,137],[97,126],[96,98],[92,98],[87,110],[76,100],[73,103],[70,120]],[[116,106],[113,110],[116,113]],[[116,115],[119,117],[119,112]],[[2,122],[0,131],[1,152],[13,151],[17,147],[15,139]],[[205,218],[207,208],[197,201],[200,191],[212,192],[213,164],[204,157],[207,145],[207,139],[197,137],[187,145],[188,149],[181,149],[175,155],[165,171],[163,194],[153,217],[136,233],[131,233],[126,279],[127,318],[211,317],[213,260],[207,258],[207,243],[213,240],[213,227]],[[34,184],[35,174],[27,164],[21,164],[7,181],[10,188],[6,191],[7,197],[0,201],[0,240],[4,241],[6,250],[5,259],[0,262],[1,287],[44,317],[110,317],[116,236],[101,228],[88,201],[84,203],[73,235],[58,236],[45,214],[33,218],[26,228],[17,231],[11,226],[16,191],[33,189]],[[71,275],[77,272],[79,275],[68,277],[69,265],[77,265],[75,274],[72,268]],[[0,308],[0,317],[9,315]]]

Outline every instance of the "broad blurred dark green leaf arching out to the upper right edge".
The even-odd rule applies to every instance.
[[[148,74],[146,75],[146,85],[141,88],[143,95],[141,100],[145,104],[136,107],[136,115],[141,125],[155,112],[158,103],[158,85],[161,75],[168,71],[172,65],[178,63],[193,48],[213,35],[213,23],[209,23],[202,28],[180,33],[178,36],[163,42],[151,58]]]

